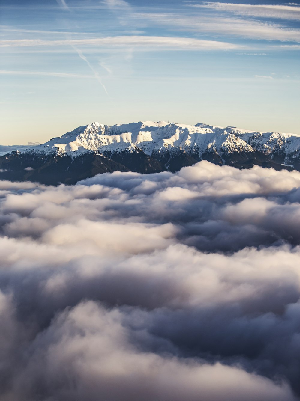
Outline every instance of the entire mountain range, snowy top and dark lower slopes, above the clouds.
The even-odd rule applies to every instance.
[[[99,173],[178,171],[200,160],[300,171],[300,135],[198,123],[81,126],[45,144],[0,146],[0,179],[73,184]]]

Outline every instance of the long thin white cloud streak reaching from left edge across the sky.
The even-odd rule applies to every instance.
[[[46,41],[41,39],[14,39],[0,41],[0,47],[39,47],[39,46],[103,46],[135,47],[147,49],[182,49],[182,50],[232,50],[241,46],[221,41],[208,41],[195,38],[170,36],[109,36],[106,38],[64,39]]]

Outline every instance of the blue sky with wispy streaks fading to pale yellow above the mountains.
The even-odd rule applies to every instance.
[[[139,120],[300,134],[300,6],[1,0],[1,144]]]

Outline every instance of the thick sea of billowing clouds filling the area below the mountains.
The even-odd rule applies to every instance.
[[[296,171],[0,181],[0,400],[299,400],[299,227]]]

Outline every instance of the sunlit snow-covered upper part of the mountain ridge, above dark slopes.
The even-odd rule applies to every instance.
[[[284,155],[286,164],[299,154],[300,135],[279,132],[253,132],[236,127],[217,127],[198,123],[195,126],[166,122],[137,122],[107,126],[94,122],[81,126],[45,144],[20,147],[20,152],[68,154],[82,152],[109,155],[115,152],[143,151],[154,155],[165,151],[183,151],[190,155],[207,152],[231,154],[255,152]],[[8,150],[9,151],[9,150]],[[1,152],[1,147],[0,147]],[[4,150],[5,152],[5,150]],[[4,154],[2,151],[2,154]],[[6,152],[7,153],[7,152]]]

